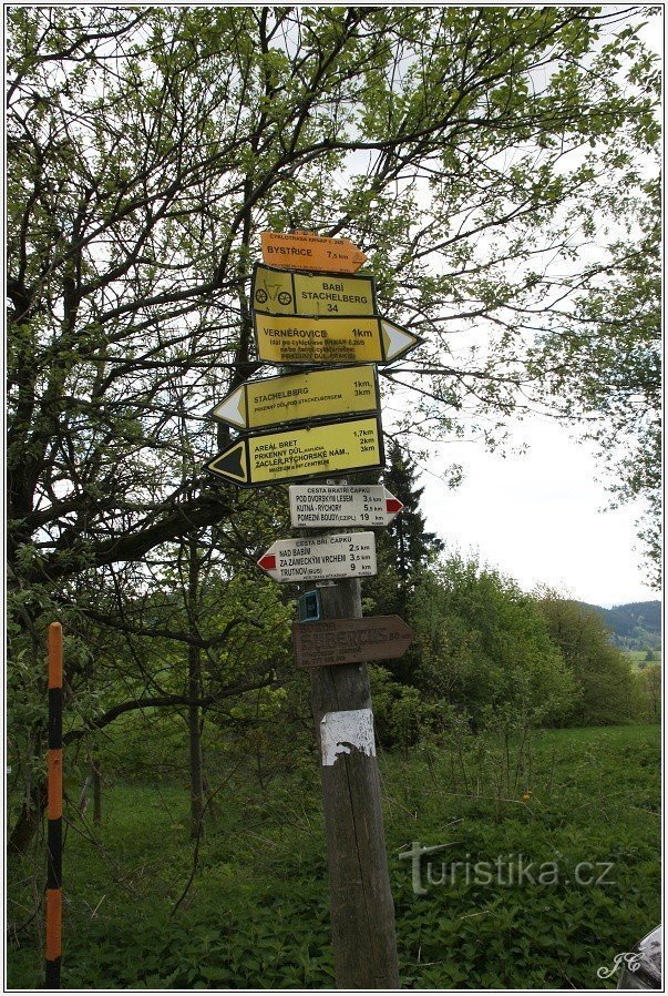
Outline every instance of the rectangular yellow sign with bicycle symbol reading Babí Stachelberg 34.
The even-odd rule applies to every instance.
[[[256,263],[253,307],[273,315],[374,315],[370,276],[292,273]]]

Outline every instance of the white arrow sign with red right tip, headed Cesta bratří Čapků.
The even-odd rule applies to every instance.
[[[389,526],[403,505],[382,485],[290,485],[292,526]]]

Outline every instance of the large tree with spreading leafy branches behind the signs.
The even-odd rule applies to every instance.
[[[388,400],[415,399],[398,430],[461,431],[467,405],[495,425],[527,374],[535,313],[579,285],[574,218],[594,225],[616,203],[631,171],[610,150],[650,142],[654,119],[651,94],[625,89],[629,67],[644,72],[634,9],[16,6],[8,18],[12,681],[29,724],[17,739],[38,759],[43,716],[21,662],[44,621],[66,623],[91,729],[148,701],[185,708],[183,690],[137,682],[127,699],[119,681],[102,705],[91,629],[124,632],[132,607],[142,637],[157,563],[192,535],[251,559],[258,532],[240,524],[285,507],[278,489],[265,505],[201,472],[227,438],[207,411],[260,368],[259,232],[298,225],[367,251],[381,307],[428,339],[384,372]],[[565,258],[569,286],[555,291]],[[484,354],[462,359],[451,332],[481,323]]]

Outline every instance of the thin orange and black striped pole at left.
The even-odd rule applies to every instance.
[[[49,627],[49,851],[45,987],[60,989],[63,846],[63,628]]]

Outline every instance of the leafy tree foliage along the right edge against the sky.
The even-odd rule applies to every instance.
[[[623,217],[625,217],[623,215]],[[617,502],[638,500],[649,579],[661,583],[661,190],[629,206],[607,265],[593,267],[564,323],[536,353],[555,403],[599,448]]]

